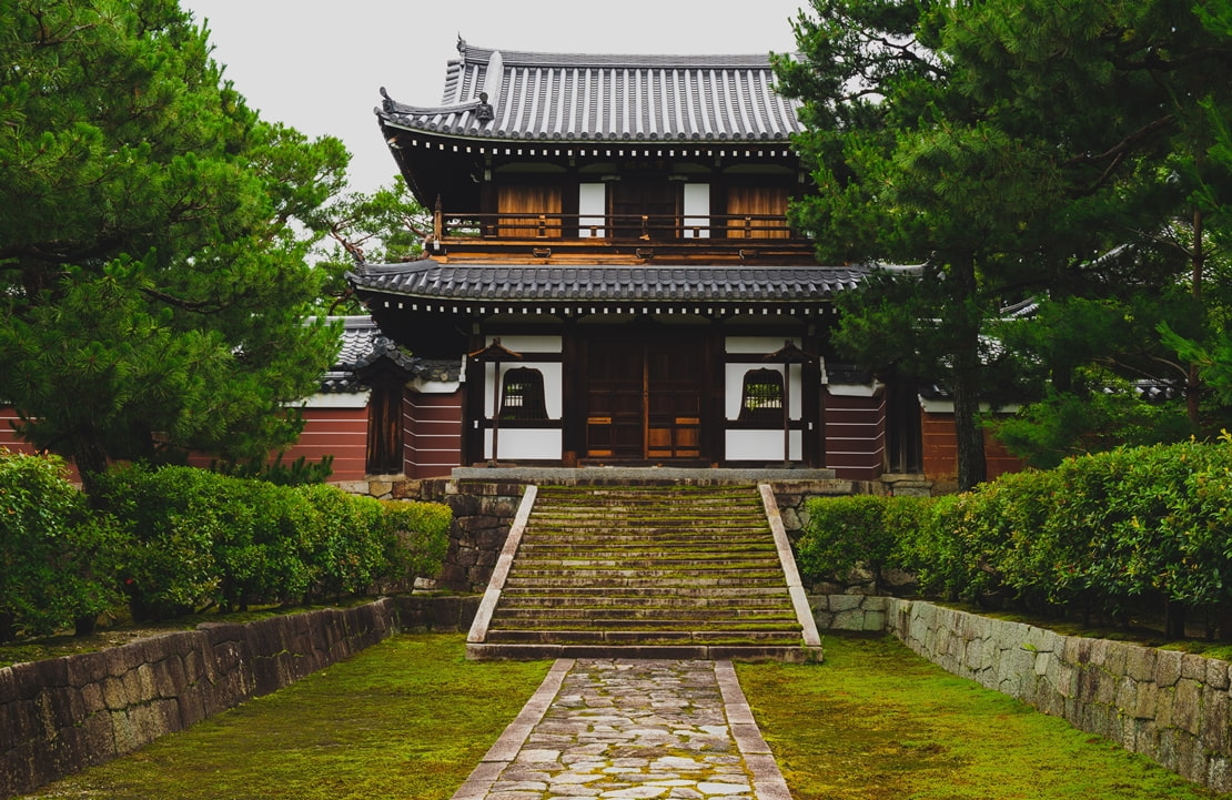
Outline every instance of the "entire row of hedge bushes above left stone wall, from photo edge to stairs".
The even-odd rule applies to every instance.
[[[451,513],[326,485],[123,465],[86,497],[54,457],[0,450],[0,641],[126,599],[137,620],[404,587],[435,575]]]

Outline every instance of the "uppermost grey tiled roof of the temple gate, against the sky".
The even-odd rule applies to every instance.
[[[786,142],[802,129],[797,106],[774,91],[769,55],[524,53],[460,39],[440,106],[386,95],[377,113],[402,128],[493,139]]]

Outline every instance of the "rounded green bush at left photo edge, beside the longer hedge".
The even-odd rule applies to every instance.
[[[92,626],[120,602],[110,574],[120,542],[63,460],[0,449],[0,641]]]

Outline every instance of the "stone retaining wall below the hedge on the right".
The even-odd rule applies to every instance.
[[[1216,791],[1232,790],[1226,661],[1051,630],[892,597],[809,598],[819,629],[878,622],[949,672],[1110,738]]]

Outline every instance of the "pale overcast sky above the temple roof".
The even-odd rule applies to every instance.
[[[457,38],[549,53],[786,53],[807,0],[181,0],[208,22],[214,59],[249,105],[351,151],[351,187],[371,192],[395,167],[372,110],[381,86],[436,105]],[[722,9],[726,6],[726,10]]]

